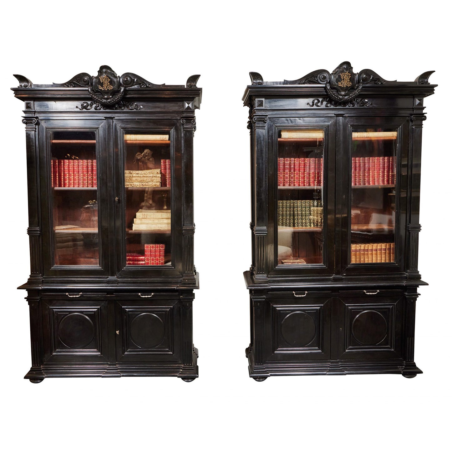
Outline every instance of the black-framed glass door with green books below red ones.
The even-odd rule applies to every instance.
[[[333,274],[334,188],[329,191],[325,182],[334,180],[335,118],[286,121],[277,125],[272,140],[275,266],[294,276]]]

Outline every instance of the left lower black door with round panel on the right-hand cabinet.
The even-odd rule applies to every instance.
[[[330,292],[268,293],[266,359],[317,361],[330,359]],[[264,355],[264,356],[265,356]]]

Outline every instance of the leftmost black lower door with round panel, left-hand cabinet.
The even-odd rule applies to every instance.
[[[109,335],[107,301],[71,293],[43,296],[44,363],[108,363]]]

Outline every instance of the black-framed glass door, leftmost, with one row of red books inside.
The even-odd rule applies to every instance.
[[[41,185],[42,225],[50,245],[42,250],[44,272],[106,275],[105,123],[42,121],[40,127],[41,172],[47,174]]]

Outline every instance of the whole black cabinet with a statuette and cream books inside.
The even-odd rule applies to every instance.
[[[198,377],[193,133],[202,89],[108,66],[24,101],[33,383]],[[25,182],[25,181],[24,181]]]

